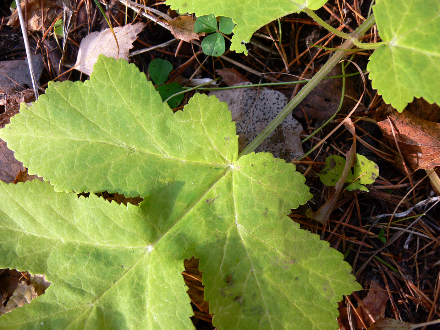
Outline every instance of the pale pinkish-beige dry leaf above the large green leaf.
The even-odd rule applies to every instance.
[[[133,48],[132,43],[137,39],[138,33],[142,31],[144,26],[144,23],[139,22],[133,25],[118,26],[113,29],[119,44],[119,54],[117,52],[116,40],[110,28],[101,32],[90,33],[81,40],[75,69],[90,75],[99,54],[128,61],[128,52]]]

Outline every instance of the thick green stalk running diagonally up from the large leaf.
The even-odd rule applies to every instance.
[[[271,135],[273,131],[278,127],[279,124],[286,119],[286,117],[292,112],[292,110],[299,104],[301,101],[308,95],[308,93],[312,92],[312,89],[316,87],[317,84],[330,71],[334,68],[347,55],[346,50],[351,49],[353,47],[353,39],[359,38],[363,36],[368,29],[375,23],[374,15],[371,15],[365,22],[363,22],[352,34],[350,34],[350,39],[345,41],[344,44],[341,45],[341,50],[336,51],[334,55],[324,64],[324,66],[319,70],[315,76],[312,77],[308,81],[308,83],[298,92],[298,94],[286,105],[286,107],[281,110],[281,112],[274,118],[273,121],[269,123],[266,128],[255,138],[249,145],[238,155],[238,157],[242,155],[246,155],[251,153],[253,150],[257,149],[257,147]]]

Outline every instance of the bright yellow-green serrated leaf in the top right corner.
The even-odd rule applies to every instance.
[[[373,8],[385,41],[367,66],[373,88],[400,112],[414,96],[440,104],[440,2],[377,0]]]

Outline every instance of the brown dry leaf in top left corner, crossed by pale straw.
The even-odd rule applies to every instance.
[[[41,4],[43,3],[43,10],[41,10]],[[22,1],[21,7],[23,15],[25,15],[26,1]],[[27,2],[27,26],[30,31],[40,31],[43,26],[44,17],[44,29],[48,29],[51,26],[55,18],[62,13],[63,5],[62,0],[29,0]],[[43,16],[42,16],[43,15]],[[12,13],[11,18],[7,22],[7,25],[20,26],[20,20],[18,19],[18,11]]]

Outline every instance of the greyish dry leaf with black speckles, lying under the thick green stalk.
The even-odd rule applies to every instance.
[[[231,110],[237,128],[238,150],[242,151],[287,104],[286,96],[269,88],[235,88],[210,92]],[[291,161],[304,154],[300,139],[301,124],[292,115],[255,150],[271,152]]]

